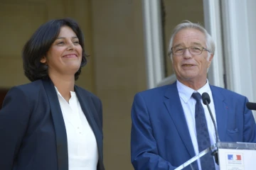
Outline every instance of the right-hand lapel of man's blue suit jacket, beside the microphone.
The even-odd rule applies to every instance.
[[[218,128],[218,134],[220,137],[220,141],[225,141],[225,130],[227,129],[227,118],[228,118],[228,111],[227,106],[224,101],[223,94],[218,91],[214,86],[210,86],[210,89],[213,94],[213,102],[215,108],[215,115],[216,115],[216,123]]]

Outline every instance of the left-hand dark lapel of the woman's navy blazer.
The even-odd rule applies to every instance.
[[[58,96],[55,91],[53,82],[50,79],[42,81],[48,96],[50,111],[53,117],[53,125],[55,128],[58,170],[68,170],[68,140]]]

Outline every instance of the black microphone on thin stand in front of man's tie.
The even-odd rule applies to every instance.
[[[203,100],[203,104],[205,104],[205,105],[207,106],[208,111],[209,111],[209,113],[210,113],[210,118],[211,118],[211,120],[213,121],[214,130],[215,130],[215,135],[216,135],[216,143],[218,143],[218,142],[220,142],[220,138],[219,138],[219,136],[218,136],[218,130],[217,130],[217,128],[216,128],[216,123],[215,123],[215,120],[214,120],[214,118],[213,118],[213,113],[212,113],[211,110],[210,110],[210,106],[209,106],[209,104],[210,104],[210,96],[209,96],[209,94],[206,93],[206,92],[204,92],[204,93],[202,94],[202,100]],[[215,158],[216,164],[218,164],[218,148],[217,148],[215,151],[213,151],[212,155],[213,155],[214,158]]]

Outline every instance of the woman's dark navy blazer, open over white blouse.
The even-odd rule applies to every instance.
[[[80,106],[96,140],[98,170],[102,154],[102,103],[75,86]],[[10,89],[0,111],[0,169],[68,170],[68,142],[52,81],[38,80]]]

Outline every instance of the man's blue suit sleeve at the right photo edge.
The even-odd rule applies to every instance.
[[[256,143],[256,124],[255,118],[252,115],[252,111],[250,111],[246,107],[246,103],[248,99],[245,98],[244,103],[244,127],[243,127],[243,142],[254,142]]]

